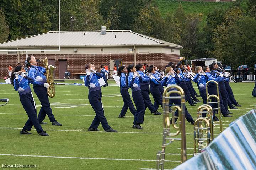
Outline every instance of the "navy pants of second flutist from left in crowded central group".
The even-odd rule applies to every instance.
[[[145,104],[143,101],[142,92],[140,90],[132,90],[132,97],[133,102],[135,103],[136,106],[133,124],[143,124],[145,115]]]

